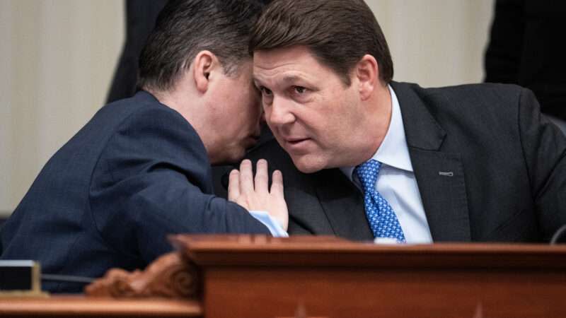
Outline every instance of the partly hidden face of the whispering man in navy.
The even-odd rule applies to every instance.
[[[221,75],[212,90],[214,141],[209,150],[213,164],[235,163],[260,136],[260,96],[253,87],[251,59],[231,76]]]

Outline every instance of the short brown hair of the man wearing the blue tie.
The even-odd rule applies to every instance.
[[[379,63],[383,82],[393,79],[393,61],[383,32],[363,0],[274,0],[262,12],[250,51],[305,45],[320,64],[350,86],[350,71],[364,54]]]

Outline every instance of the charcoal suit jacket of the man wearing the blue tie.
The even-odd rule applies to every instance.
[[[391,85],[435,242],[548,240],[566,223],[566,140],[530,90]],[[249,157],[282,170],[290,234],[373,239],[362,193],[339,169],[301,173],[275,141]]]

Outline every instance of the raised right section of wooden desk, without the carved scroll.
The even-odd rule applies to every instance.
[[[176,236],[207,317],[566,317],[566,247]],[[221,306],[217,304],[222,304]]]

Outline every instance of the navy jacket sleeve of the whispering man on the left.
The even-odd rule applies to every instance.
[[[149,262],[171,233],[266,233],[246,209],[212,194],[204,145],[177,112],[149,107],[125,119],[93,172],[90,209],[100,236]]]

